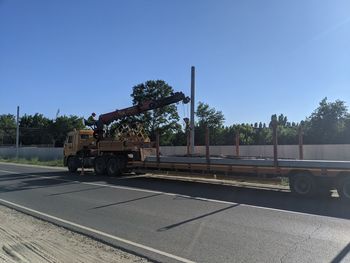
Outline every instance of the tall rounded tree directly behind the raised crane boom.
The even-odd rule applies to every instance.
[[[149,80],[133,87],[131,97],[136,105],[146,100],[158,100],[174,93],[173,88],[163,80]],[[176,105],[168,105],[159,109],[142,113],[133,118],[144,125],[151,140],[155,140],[156,131],[161,134],[161,144],[169,144],[171,135],[181,129]]]

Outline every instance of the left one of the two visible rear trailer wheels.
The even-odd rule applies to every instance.
[[[289,187],[292,193],[300,196],[315,194],[315,180],[310,174],[294,174],[289,177]]]

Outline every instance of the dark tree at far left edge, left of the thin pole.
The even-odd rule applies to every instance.
[[[16,119],[12,114],[0,115],[0,143],[14,144],[16,141]]]

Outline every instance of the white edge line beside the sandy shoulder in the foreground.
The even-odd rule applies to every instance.
[[[122,242],[122,243],[125,243],[125,244],[128,244],[128,245],[132,245],[134,247],[138,247],[138,248],[141,248],[141,249],[144,249],[144,250],[147,250],[147,251],[150,251],[150,252],[153,252],[153,253],[156,253],[156,254],[168,257],[168,258],[172,258],[172,259],[175,259],[175,260],[180,261],[180,262],[194,263],[194,261],[191,261],[189,259],[182,258],[182,257],[176,256],[176,255],[170,254],[168,252],[164,252],[164,251],[161,251],[161,250],[158,250],[158,249],[146,246],[146,245],[142,245],[140,243],[136,243],[134,241],[130,241],[130,240],[127,240],[127,239],[122,238],[122,237],[117,237],[117,236],[114,236],[114,235],[111,235],[111,234],[99,231],[97,229],[90,228],[90,227],[87,227],[87,226],[83,226],[83,225],[80,225],[80,224],[77,224],[77,223],[74,223],[74,222],[71,222],[71,221],[68,221],[68,220],[56,217],[56,216],[52,216],[52,215],[49,215],[49,214],[46,214],[46,213],[43,213],[43,212],[31,209],[31,208],[28,208],[28,207],[25,207],[25,206],[22,206],[22,205],[19,205],[19,204],[16,204],[16,203],[9,202],[9,201],[4,200],[4,199],[0,199],[0,202],[2,202],[4,204],[7,204],[7,205],[10,205],[12,207],[16,207],[16,208],[22,209],[24,211],[27,211],[27,212],[30,212],[30,213],[33,213],[33,214],[36,214],[36,215],[40,215],[40,216],[44,216],[46,218],[53,219],[53,220],[58,221],[60,223],[67,224],[67,225],[79,228],[81,230],[86,230],[86,231],[98,234],[100,236],[116,240],[118,242]]]

